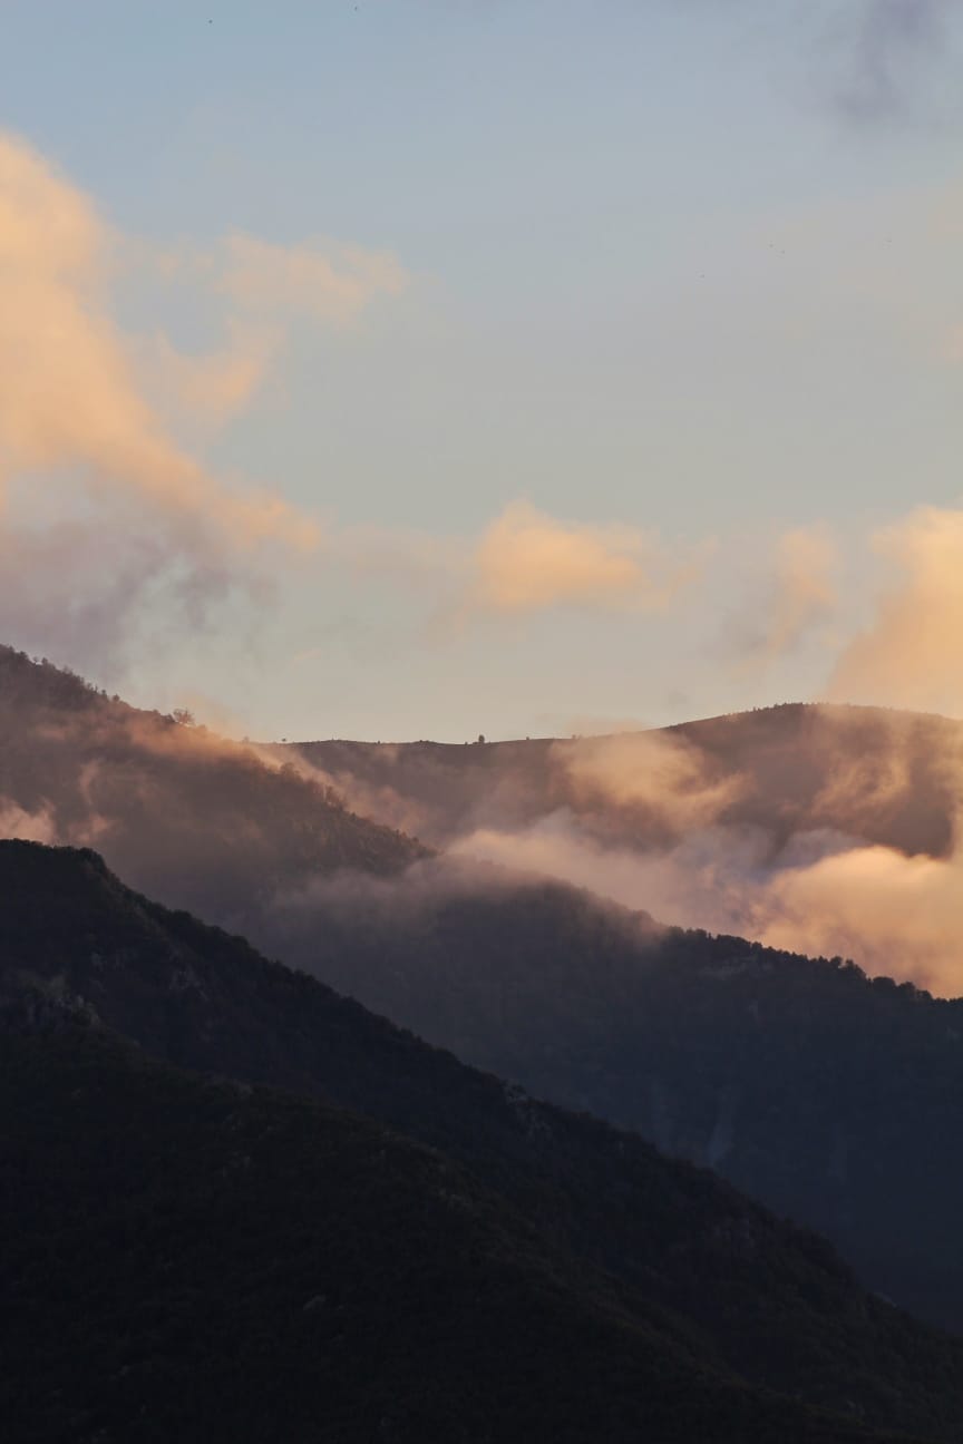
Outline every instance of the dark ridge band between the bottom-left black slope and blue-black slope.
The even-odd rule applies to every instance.
[[[82,1008],[180,1064],[312,1092],[443,1145],[524,1216],[540,1248],[576,1272],[605,1269],[629,1321],[689,1349],[703,1370],[954,1437],[963,1344],[863,1294],[820,1239],[710,1174],[533,1103],[128,892],[90,852],[0,845],[0,900],[12,1015]]]

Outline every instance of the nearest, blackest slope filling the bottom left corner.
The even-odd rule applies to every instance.
[[[871,1440],[705,1369],[347,1113],[69,1024],[3,1037],[0,1109],[9,1444]]]

